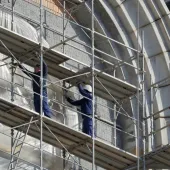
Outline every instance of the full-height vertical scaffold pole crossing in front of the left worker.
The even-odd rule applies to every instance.
[[[40,62],[41,62],[41,113],[40,113],[40,170],[43,170],[43,1],[40,0]]]

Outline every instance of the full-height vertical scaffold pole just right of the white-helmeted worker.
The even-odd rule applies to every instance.
[[[93,115],[93,135],[92,135],[92,170],[95,170],[95,113],[94,113],[94,0],[91,1],[92,10],[91,10],[91,44],[92,44],[92,65],[91,65],[91,72],[92,72],[92,115]]]

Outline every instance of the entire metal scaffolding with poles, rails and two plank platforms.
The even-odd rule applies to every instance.
[[[92,170],[96,169],[96,166],[103,167],[105,169],[112,169],[112,170],[118,170],[118,169],[146,169],[147,161],[149,158],[154,154],[146,154],[146,135],[145,135],[145,121],[146,119],[143,119],[141,121],[140,114],[142,114],[142,117],[145,118],[145,87],[144,87],[144,80],[145,80],[145,70],[144,70],[144,54],[143,54],[143,38],[142,38],[142,48],[139,45],[139,36],[143,37],[143,32],[141,33],[139,30],[139,3],[138,3],[138,36],[137,36],[137,42],[138,42],[138,49],[134,49],[132,47],[126,46],[125,44],[114,40],[106,35],[103,35],[95,30],[95,1],[91,0],[91,28],[88,28],[86,26],[83,26],[75,21],[75,19],[72,17],[71,13],[75,12],[80,6],[86,5],[86,1],[75,3],[74,1],[67,1],[64,0],[63,4],[58,1],[58,3],[62,6],[63,15],[61,16],[63,18],[63,32],[61,34],[62,36],[62,42],[57,43],[55,45],[52,45],[51,47],[46,47],[43,44],[43,33],[44,28],[49,29],[50,31],[54,31],[57,34],[60,34],[57,32],[57,30],[53,30],[48,28],[46,25],[44,25],[44,7],[43,7],[43,1],[40,0],[40,21],[36,22],[31,18],[28,18],[22,14],[17,13],[14,10],[15,3],[17,0],[11,0],[11,9],[7,8],[5,6],[0,6],[1,9],[7,10],[11,12],[12,16],[12,27],[11,30],[8,30],[6,28],[0,27],[0,52],[7,55],[7,58],[3,59],[3,62],[5,65],[10,65],[12,68],[12,79],[11,82],[8,82],[11,85],[11,89],[7,89],[11,92],[11,102],[0,98],[0,121],[1,123],[5,124],[6,126],[9,126],[11,130],[11,140],[12,140],[12,152],[10,154],[10,164],[9,169],[19,169],[22,168],[22,165],[28,165],[35,167],[36,169],[44,170],[43,165],[43,142],[50,144],[54,147],[58,147],[60,149],[63,149],[63,157],[62,159],[66,163],[68,159],[66,158],[67,153],[69,156],[72,157],[75,164],[82,168],[87,169],[86,167],[83,167],[81,164],[79,164],[74,157],[75,155],[79,158],[82,158],[84,160],[87,160],[88,162],[92,163]],[[71,8],[66,9],[66,3],[71,3]],[[14,23],[14,15],[19,16],[33,24],[35,24],[40,29],[40,41],[39,43],[32,41],[22,35],[19,35],[13,31],[13,23]],[[91,46],[88,44],[84,44],[82,42],[77,42],[80,44],[85,45],[88,49],[91,50],[90,53],[88,53],[91,56],[91,64],[85,64],[78,59],[75,59],[69,55],[65,54],[65,45],[72,46],[72,48],[75,48],[81,52],[87,53],[81,49],[79,49],[76,46],[73,46],[69,44],[69,41],[75,41],[75,38],[78,36],[66,36],[65,35],[65,29],[67,27],[67,23],[69,22],[69,19],[73,19],[74,24],[76,24],[78,27],[81,28],[81,31],[89,38],[91,41]],[[73,22],[73,21],[70,21]],[[141,34],[141,35],[140,35]],[[123,61],[121,59],[118,59],[110,54],[107,54],[104,51],[101,51],[100,49],[95,47],[95,37],[100,37],[101,39],[105,39],[109,42],[114,42],[117,45],[120,45],[124,48],[127,48],[128,50],[133,51],[135,56],[128,59],[127,61]],[[54,48],[62,45],[63,51],[60,52]],[[110,62],[107,59],[100,58],[96,55],[103,54],[107,56],[108,58],[111,58],[112,60],[116,61],[115,63]],[[11,62],[8,63],[7,60],[11,58]],[[39,61],[40,59],[40,61]],[[95,68],[95,60],[97,59],[100,63],[105,63],[108,65],[108,68],[104,69],[97,69]],[[26,109],[24,107],[21,107],[19,105],[16,105],[13,103],[14,101],[14,95],[19,95],[14,91],[15,86],[19,86],[20,88],[23,88],[27,91],[25,87],[22,87],[21,85],[18,85],[14,82],[14,75],[17,73],[16,71],[16,65],[14,65],[14,62],[21,62],[25,63],[29,66],[34,66],[35,63],[40,62],[41,63],[41,106],[43,102],[43,61],[46,61],[48,67],[49,67],[49,74],[59,78],[59,80],[56,80],[54,82],[46,80],[47,85],[46,87],[49,87],[50,85],[55,85],[63,89],[63,91],[69,89],[65,87],[64,85],[58,85],[57,83],[63,83],[66,82],[69,84],[69,88],[72,86],[76,86],[77,82],[85,82],[85,83],[91,83],[92,85],[92,103],[93,103],[93,113],[92,113],[92,120],[93,120],[93,135],[92,137],[83,134],[81,132],[78,132],[72,128],[69,128],[65,125],[65,123],[59,123],[57,121],[51,120],[43,115],[43,108],[41,107],[41,114],[37,114],[34,111],[31,111],[29,109]],[[80,70],[75,71],[72,69],[69,69],[65,66],[65,62],[68,60],[71,60],[75,63],[78,63],[78,65],[81,65]],[[136,66],[129,63],[129,61],[136,61]],[[116,68],[121,68],[121,66],[127,66],[131,67],[135,70],[137,74],[137,80],[136,84],[132,85],[124,80],[121,80],[117,78],[116,76],[110,75],[108,71],[115,71]],[[21,75],[18,75],[21,76]],[[23,79],[27,79],[26,77],[21,76]],[[6,81],[6,80],[4,80]],[[31,81],[31,80],[29,80]],[[64,84],[64,83],[63,83]],[[1,87],[2,88],[2,87]],[[32,92],[30,92],[32,93]],[[74,92],[75,93],[75,92]],[[75,93],[76,94],[76,93]],[[38,95],[38,94],[37,94]],[[95,96],[99,96],[105,100],[111,101],[114,103],[114,108],[109,108],[108,106],[104,106],[101,103],[98,103],[95,101]],[[130,116],[128,112],[122,107],[122,101],[124,100],[136,100],[136,118],[133,116]],[[89,99],[90,100],[90,99]],[[64,103],[60,103],[56,100],[52,100],[54,103],[58,103],[63,108],[67,108],[68,106]],[[100,117],[97,117],[95,115],[95,104],[101,105],[102,107],[107,107],[108,109],[114,111],[115,117],[114,122],[109,122],[107,120],[104,120]],[[140,108],[142,108],[142,112],[140,111]],[[70,108],[71,109],[71,108]],[[57,113],[60,113],[63,115],[63,122],[64,121],[64,114],[61,112],[56,111]],[[82,114],[81,112],[78,112],[78,114]],[[122,115],[125,118],[129,119],[135,126],[135,135],[128,133],[126,131],[123,131],[119,128],[117,128],[116,119],[118,115]],[[87,115],[84,115],[87,116]],[[152,115],[153,116],[153,115]],[[31,118],[31,120],[30,120]],[[114,138],[115,142],[114,145],[109,144],[108,142],[103,142],[103,140],[98,139],[95,137],[95,122],[100,121],[102,123],[107,124],[107,126],[111,126],[114,129]],[[24,129],[23,127],[27,127],[27,129]],[[143,129],[143,130],[141,130]],[[17,130],[20,134],[19,137],[14,136],[13,131]],[[122,133],[125,133],[136,141],[136,155],[130,154],[129,152],[126,152],[124,150],[121,150],[116,146],[116,131],[121,131]],[[0,132],[2,133],[2,132]],[[143,133],[143,134],[142,134]],[[3,133],[5,135],[5,132]],[[39,139],[40,141],[40,147],[31,146],[38,150],[40,150],[40,164],[35,165],[31,162],[27,162],[26,160],[23,160],[20,158],[20,152],[22,149],[22,146],[26,135],[30,135],[36,139]],[[142,145],[143,145],[143,153],[140,152],[140,136],[144,136],[142,139]],[[19,143],[19,144],[18,144]],[[27,143],[28,144],[28,143]],[[19,150],[16,151],[16,147],[20,146]],[[30,145],[30,144],[28,144]],[[6,153],[5,151],[2,151]],[[8,154],[8,153],[6,153]],[[150,160],[149,160],[150,161]],[[159,160],[160,161],[160,160]],[[162,161],[163,162],[163,161]],[[149,163],[148,163],[149,164]],[[168,163],[169,165],[169,163]],[[63,166],[64,167],[64,166]],[[24,167],[25,168],[25,167]]]

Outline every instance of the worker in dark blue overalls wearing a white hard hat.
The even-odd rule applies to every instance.
[[[92,87],[90,85],[85,85],[84,87],[79,83],[78,84],[79,92],[84,98],[80,100],[72,100],[67,97],[67,101],[74,105],[80,106],[81,112],[87,116],[92,116]],[[92,136],[93,122],[92,118],[82,115],[83,119],[83,132]]]

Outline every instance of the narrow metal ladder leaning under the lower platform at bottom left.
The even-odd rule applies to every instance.
[[[17,134],[13,141],[12,156],[11,156],[11,160],[8,166],[8,170],[14,170],[17,167],[19,156],[20,156],[25,138],[28,134],[32,120],[33,120],[33,117],[31,117],[28,125],[23,126],[21,131],[17,131]]]

